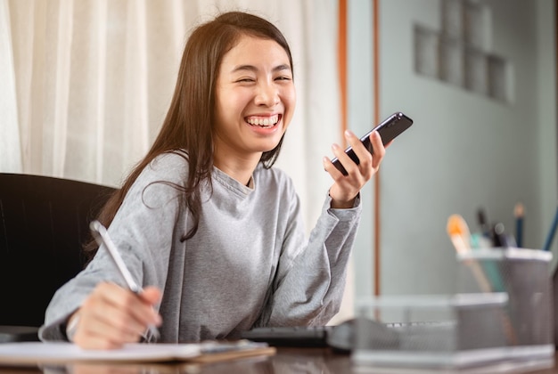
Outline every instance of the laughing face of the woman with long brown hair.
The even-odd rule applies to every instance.
[[[215,145],[227,157],[273,150],[291,122],[289,57],[272,39],[243,36],[223,57],[216,85]]]

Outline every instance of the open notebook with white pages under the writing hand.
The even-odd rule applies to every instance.
[[[67,342],[0,344],[0,364],[21,365],[58,362],[217,362],[275,354],[266,343],[247,340],[200,344],[128,344],[113,350],[83,350]]]

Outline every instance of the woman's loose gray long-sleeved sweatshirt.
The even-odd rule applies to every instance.
[[[217,168],[203,189],[198,232],[182,192],[187,161],[165,154],[145,167],[108,232],[138,284],[163,290],[160,342],[236,338],[258,326],[324,325],[339,311],[360,202],[324,202],[306,239],[291,179],[259,165],[250,187]],[[168,183],[159,183],[165,181]],[[62,340],[62,326],[100,281],[124,286],[103,246],[86,269],[53,296],[39,331]]]

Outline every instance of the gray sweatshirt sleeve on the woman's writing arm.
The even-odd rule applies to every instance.
[[[144,169],[107,228],[127,269],[142,287],[152,285],[164,289],[170,241],[180,209],[176,188],[159,183],[177,181],[176,175],[168,179],[172,177],[168,169],[179,167],[180,161],[176,161],[177,156],[167,157],[171,159],[159,159]],[[45,323],[39,329],[40,339],[66,340],[65,322],[101,281],[126,287],[104,246],[83,271],[56,291],[46,308]]]

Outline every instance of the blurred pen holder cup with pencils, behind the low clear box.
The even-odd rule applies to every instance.
[[[457,256],[458,292],[505,292],[506,346],[513,356],[554,354],[550,252],[484,248]],[[552,349],[551,349],[552,347]]]

